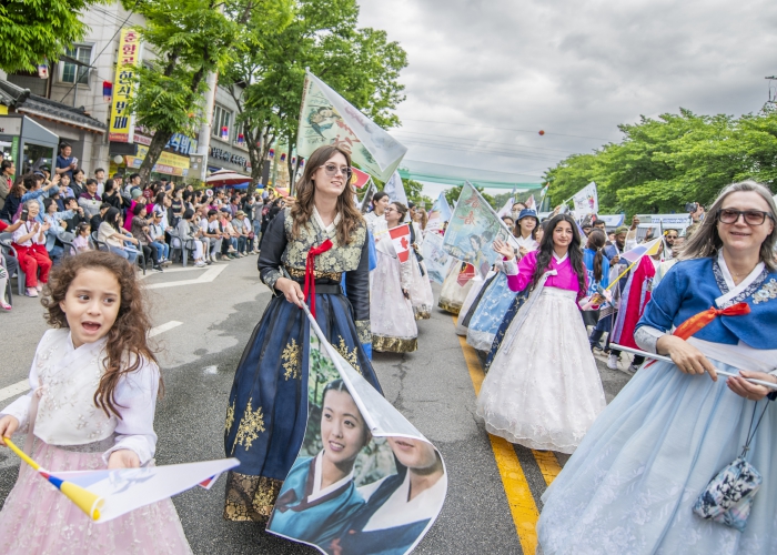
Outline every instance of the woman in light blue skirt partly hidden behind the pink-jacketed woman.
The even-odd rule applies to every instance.
[[[516,224],[516,240],[519,248],[518,260],[524,254],[537,250],[539,245],[536,241],[538,228],[537,213],[531,209],[522,210]],[[477,307],[467,325],[466,342],[478,351],[488,351],[491,349],[502,319],[517,294],[507,286],[507,275],[502,271],[502,264],[498,262],[497,269],[500,272],[487,285],[483,299],[477,303]]]

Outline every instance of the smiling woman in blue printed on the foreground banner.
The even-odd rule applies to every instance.
[[[342,380],[326,384],[321,403],[321,443],[300,457],[283,483],[268,529],[326,547],[364,505],[353,484],[356,457],[372,438]]]

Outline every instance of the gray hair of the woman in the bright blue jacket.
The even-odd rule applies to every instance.
[[[718,210],[723,205],[723,201],[726,200],[731,193],[737,192],[756,192],[766,201],[769,205],[769,211],[771,215],[771,221],[775,223],[775,214],[777,214],[777,204],[771,196],[771,191],[766,185],[757,183],[753,180],[740,181],[739,183],[731,183],[727,185],[715,202],[707,211],[707,216],[699,224],[698,229],[688,239],[683,249],[680,250],[679,260],[690,260],[690,259],[703,259],[706,256],[715,256],[720,248],[723,246],[723,240],[718,234],[717,223],[718,223]],[[760,260],[767,265],[771,271],[777,270],[777,262],[775,262],[775,242],[777,241],[777,235],[774,230],[767,235],[760,245]]]

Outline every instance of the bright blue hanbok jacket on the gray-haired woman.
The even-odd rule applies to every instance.
[[[757,269],[758,270],[758,269]],[[777,345],[777,272],[763,268],[738,286],[727,283],[727,270],[715,258],[680,261],[664,276],[637,330],[648,325],[670,332],[690,316],[709,310],[746,302],[750,313],[719,316],[694,334],[712,343],[736,345],[741,341],[753,349]]]

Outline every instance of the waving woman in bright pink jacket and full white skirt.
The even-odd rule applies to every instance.
[[[509,289],[531,294],[491,363],[477,414],[511,443],[572,453],[606,403],[576,302],[586,291],[577,224],[561,214],[545,230],[517,268],[513,249],[494,243]]]

